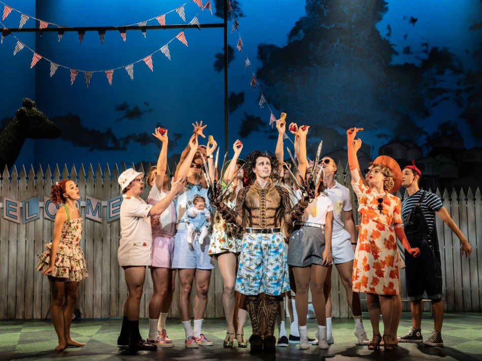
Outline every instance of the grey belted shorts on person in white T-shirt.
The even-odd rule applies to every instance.
[[[295,226],[290,235],[288,265],[293,267],[323,265],[324,251],[325,236],[322,228]]]

